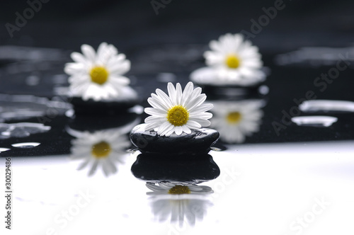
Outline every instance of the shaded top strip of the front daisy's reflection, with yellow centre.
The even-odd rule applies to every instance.
[[[157,185],[154,183],[147,183],[147,188],[152,192],[147,192],[147,195],[182,195],[182,194],[198,194],[204,195],[207,193],[214,193],[212,188],[208,186],[200,186],[193,184],[161,182]]]

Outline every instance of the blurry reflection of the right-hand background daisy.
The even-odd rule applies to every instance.
[[[263,117],[263,101],[218,101],[214,103],[212,127],[220,139],[229,143],[242,143],[246,136],[258,132]]]

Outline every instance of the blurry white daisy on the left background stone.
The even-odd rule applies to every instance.
[[[64,71],[69,74],[69,92],[84,101],[117,98],[130,79],[122,74],[130,70],[130,61],[117,48],[102,42],[97,52],[90,45],[81,46],[82,54],[72,52],[74,62],[67,63]]]

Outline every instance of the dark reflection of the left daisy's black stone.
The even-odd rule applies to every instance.
[[[69,120],[69,127],[79,131],[95,132],[128,125],[138,116],[137,113],[127,113],[125,111],[122,111],[119,115],[76,115]]]

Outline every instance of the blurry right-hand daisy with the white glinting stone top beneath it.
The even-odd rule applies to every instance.
[[[241,34],[222,35],[212,40],[204,53],[208,67],[197,69],[190,79],[198,84],[251,86],[264,81],[263,62],[258,47]]]

